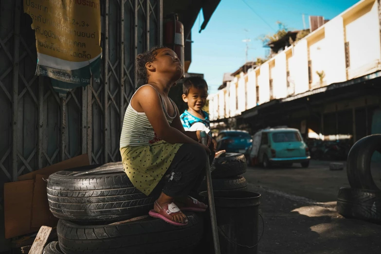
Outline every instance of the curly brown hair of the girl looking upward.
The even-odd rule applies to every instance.
[[[153,61],[156,60],[156,55],[158,54],[157,51],[159,49],[166,48],[165,46],[155,46],[152,47],[150,50],[138,54],[136,56],[136,61],[135,61],[135,69],[136,69],[136,77],[138,81],[138,87],[143,86],[147,84],[148,82],[148,73],[145,68],[146,63],[152,63]]]

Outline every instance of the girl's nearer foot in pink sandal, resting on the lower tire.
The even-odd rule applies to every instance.
[[[149,211],[148,214],[154,218],[161,218],[172,225],[184,226],[188,224],[188,218],[174,202],[159,203],[156,200],[154,209]]]

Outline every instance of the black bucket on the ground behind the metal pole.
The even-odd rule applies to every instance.
[[[261,195],[250,191],[214,191],[213,193],[221,254],[256,254],[258,252],[258,208]],[[201,192],[200,196],[204,202],[208,201],[206,191]],[[211,224],[210,222],[207,224],[209,229],[206,229],[205,233],[211,240]],[[213,241],[209,240],[212,251],[214,250]]]

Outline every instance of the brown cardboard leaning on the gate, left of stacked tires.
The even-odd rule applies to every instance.
[[[89,164],[89,156],[82,154],[5,183],[5,238],[37,232],[41,226],[55,227],[58,219],[49,210],[45,180],[55,172]]]

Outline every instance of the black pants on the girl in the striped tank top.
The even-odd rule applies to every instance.
[[[210,164],[214,156],[212,151]],[[170,197],[197,197],[197,190],[205,177],[206,158],[207,153],[200,145],[181,145],[165,173],[163,193]]]

